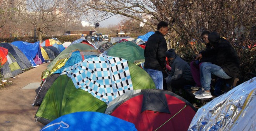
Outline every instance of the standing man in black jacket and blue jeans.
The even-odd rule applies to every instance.
[[[157,31],[149,37],[144,50],[144,69],[153,79],[156,89],[163,89],[162,72],[165,70],[165,52],[167,51],[167,43],[164,36],[168,31],[168,24],[164,21],[159,22]]]

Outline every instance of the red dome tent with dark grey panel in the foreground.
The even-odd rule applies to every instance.
[[[138,131],[187,131],[196,112],[182,97],[159,89],[141,90],[113,106],[106,113],[135,124]]]

